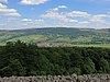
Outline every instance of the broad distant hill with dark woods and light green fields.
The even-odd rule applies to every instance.
[[[0,31],[0,44],[16,39],[26,43],[100,44],[110,43],[110,30],[46,27]]]

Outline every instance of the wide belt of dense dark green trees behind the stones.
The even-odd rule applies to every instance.
[[[0,77],[110,73],[110,49],[37,47],[21,40],[0,47]]]

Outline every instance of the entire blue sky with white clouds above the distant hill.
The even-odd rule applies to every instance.
[[[0,30],[110,28],[110,0],[0,0]]]

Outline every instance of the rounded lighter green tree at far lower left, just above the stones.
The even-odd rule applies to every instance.
[[[0,70],[0,72],[2,73],[2,75],[25,75],[25,68],[22,67],[22,65],[20,63],[19,59],[14,59],[14,60],[10,60],[9,66],[2,68]]]

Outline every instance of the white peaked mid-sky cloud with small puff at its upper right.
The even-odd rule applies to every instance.
[[[51,9],[46,11],[46,14],[42,14],[42,19],[50,19],[50,20],[57,20],[62,22],[77,22],[77,20],[69,19],[67,15],[63,14],[62,12],[58,12],[59,9],[65,9],[67,8],[66,5],[58,5],[57,8]]]

